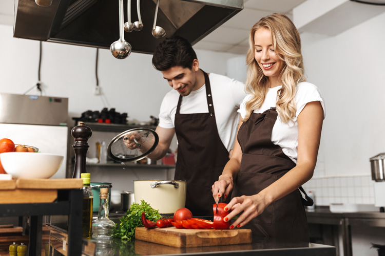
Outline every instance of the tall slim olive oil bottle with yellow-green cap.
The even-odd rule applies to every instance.
[[[89,187],[91,174],[82,173],[83,180],[83,223],[82,234],[84,238],[92,237],[92,200],[93,194]]]

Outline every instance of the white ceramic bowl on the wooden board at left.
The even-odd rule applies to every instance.
[[[62,165],[64,157],[48,153],[6,152],[0,161],[13,178],[49,179]]]

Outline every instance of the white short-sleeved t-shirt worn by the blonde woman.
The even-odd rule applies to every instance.
[[[277,102],[277,92],[282,86],[270,88],[267,92],[265,101],[263,102],[261,108],[254,110],[254,113],[263,113],[264,111],[270,109],[271,107],[276,106]],[[243,100],[239,113],[242,117],[245,116],[245,103],[251,98],[251,95],[247,95]],[[297,104],[296,116],[293,118],[293,121],[288,121],[287,123],[281,122],[279,116],[273,126],[271,140],[273,144],[279,145],[282,148],[283,153],[297,163],[297,150],[298,150],[298,122],[297,117],[299,113],[303,110],[306,103],[312,101],[320,101],[323,109],[323,118],[325,118],[325,104],[322,98],[321,92],[319,89],[310,82],[300,82],[297,84],[297,92],[295,95],[295,101]]]

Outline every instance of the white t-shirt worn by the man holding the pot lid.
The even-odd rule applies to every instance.
[[[237,135],[239,114],[237,110],[247,95],[242,82],[223,75],[210,73],[211,94],[213,97],[215,120],[218,134],[227,151],[234,147]],[[175,114],[179,99],[178,91],[172,89],[164,96],[160,114],[159,126],[171,129],[175,127]],[[180,114],[208,113],[206,86],[192,91],[182,98]]]

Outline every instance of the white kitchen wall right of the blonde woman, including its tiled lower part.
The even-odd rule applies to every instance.
[[[385,152],[383,24],[385,13],[337,36],[301,34],[308,80],[326,103],[319,162],[305,184],[319,205],[374,203],[369,158]]]

